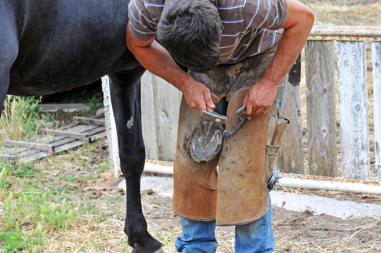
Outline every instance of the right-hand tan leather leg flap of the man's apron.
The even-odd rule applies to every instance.
[[[239,90],[229,100],[228,131],[239,124],[235,111],[242,106],[247,89]],[[218,166],[216,225],[249,223],[268,210],[266,130],[267,117],[256,116],[224,141]]]

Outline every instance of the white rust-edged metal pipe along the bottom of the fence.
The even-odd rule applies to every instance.
[[[173,162],[146,160],[144,172],[173,175]],[[280,173],[285,187],[381,195],[377,181]]]

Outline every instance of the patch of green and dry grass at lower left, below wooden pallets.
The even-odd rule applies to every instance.
[[[109,216],[102,214],[91,199],[86,200],[86,191],[72,189],[73,183],[94,180],[108,170],[107,161],[89,163],[95,158],[94,147],[99,142],[62,153],[69,153],[70,157],[52,156],[49,162],[12,165],[0,161],[0,253],[41,253],[54,244],[51,240],[57,240],[56,235],[82,227],[94,230],[94,223],[108,220]],[[63,159],[82,169],[73,171],[62,166]],[[120,196],[115,195],[114,199]],[[102,251],[105,247],[103,240],[90,237],[78,252],[85,252],[86,248]],[[56,251],[72,252],[61,246]]]

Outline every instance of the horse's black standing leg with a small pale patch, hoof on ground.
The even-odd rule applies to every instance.
[[[124,231],[128,236],[128,244],[134,248],[134,253],[161,251],[161,243],[147,231],[140,200],[140,176],[146,156],[140,110],[140,78],[144,71],[143,67],[138,67],[109,75],[120,167],[127,186]]]

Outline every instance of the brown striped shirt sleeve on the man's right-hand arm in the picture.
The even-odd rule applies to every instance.
[[[278,30],[286,21],[287,0],[246,0],[245,29]]]

